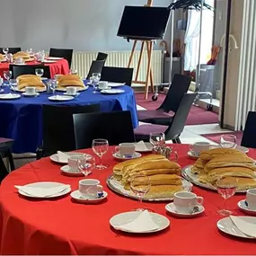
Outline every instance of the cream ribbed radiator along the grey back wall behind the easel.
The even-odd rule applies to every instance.
[[[137,71],[137,62],[139,52],[136,51],[133,57],[132,67],[134,67],[134,78]],[[130,57],[130,51],[110,51],[106,52],[109,56],[107,58],[105,66],[119,66],[127,67],[128,59]],[[72,60],[72,68],[78,71],[78,74],[86,77],[92,61],[96,59],[98,52],[75,52]],[[146,81],[146,65],[147,65],[147,53],[144,51],[143,59],[139,70],[138,80]],[[152,71],[154,75],[154,84],[161,84],[162,72],[163,72],[163,55],[161,50],[154,50],[152,56]],[[144,86],[144,85],[140,85]]]

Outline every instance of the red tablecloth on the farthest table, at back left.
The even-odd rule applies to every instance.
[[[30,61],[26,63],[27,65],[39,65],[40,62],[37,61]],[[60,59],[57,60],[55,63],[45,63],[45,66],[49,66],[50,76],[51,78],[54,77],[54,75],[60,74],[60,75],[67,75],[69,73],[69,66],[66,59]],[[4,78],[4,71],[9,70],[9,64],[4,62],[0,63],[0,75]]]

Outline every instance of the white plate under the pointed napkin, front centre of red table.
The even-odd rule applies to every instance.
[[[119,230],[119,225],[124,225],[130,221],[135,220],[140,214],[141,214],[141,212],[139,212],[139,211],[120,213],[120,214],[118,214],[116,216],[112,216],[110,218],[110,225],[113,228]],[[134,232],[134,231],[127,231],[127,230],[122,230],[122,231],[128,232],[128,233],[136,233],[136,234],[147,234],[147,233],[159,232],[159,231],[167,228],[170,225],[170,221],[166,216],[162,216],[160,214],[152,213],[152,212],[150,212],[149,214],[152,217],[154,223],[159,226],[158,229],[148,230],[145,232]]]

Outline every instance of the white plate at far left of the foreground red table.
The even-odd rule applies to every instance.
[[[54,187],[57,187],[57,186],[63,186],[63,185],[66,185],[66,184],[59,183],[59,182],[43,181],[43,182],[35,182],[35,183],[27,184],[26,186],[36,187],[36,188],[41,188],[41,189],[50,189],[50,188],[54,188]],[[22,196],[27,197],[27,198],[33,198],[33,199],[53,199],[53,198],[64,196],[67,193],[69,193],[70,191],[71,191],[71,188],[69,186],[68,188],[66,188],[66,190],[63,190],[58,194],[55,194],[55,195],[52,195],[52,196],[49,196],[49,197],[45,198],[45,197],[31,196],[31,195],[28,195],[28,194],[24,193],[22,190],[18,190],[18,192]]]

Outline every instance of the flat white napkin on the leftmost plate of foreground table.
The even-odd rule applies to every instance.
[[[48,198],[50,196],[57,195],[62,191],[66,190],[70,185],[57,186],[54,188],[37,188],[30,186],[14,186],[16,189],[21,190],[25,194],[33,197]]]

